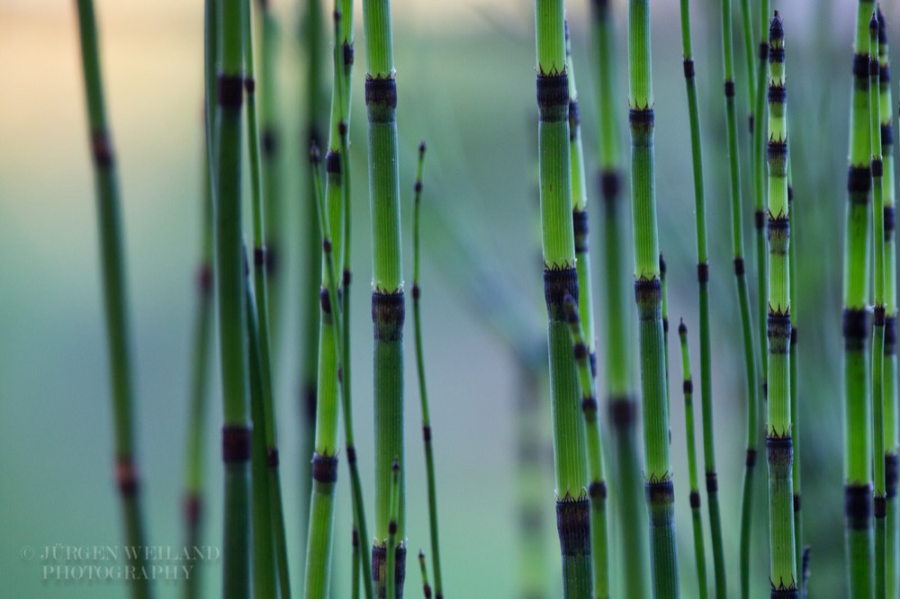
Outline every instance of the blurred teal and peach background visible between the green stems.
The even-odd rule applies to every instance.
[[[103,75],[119,157],[136,372],[139,463],[148,538],[180,547],[184,421],[200,249],[202,192],[202,2],[97,4]],[[298,45],[298,1],[273,0],[282,18],[279,105],[290,153],[282,266],[283,310],[277,337],[278,426],[295,594],[305,532],[299,506],[308,457],[300,452],[301,121],[305,63]],[[359,3],[356,3],[359,4]],[[588,1],[569,2],[580,83],[583,138],[593,165],[596,119]],[[617,17],[621,130],[626,140],[626,3]],[[691,3],[704,130],[713,293],[716,450],[731,596],[737,594],[740,478],[744,455],[744,381],[729,233],[722,106],[720,4]],[[737,3],[735,19],[739,18]],[[753,3],[754,5],[756,3]],[[883,3],[889,24],[900,5]],[[801,331],[801,424],[806,541],[812,545],[811,593],[843,589],[841,255],[847,118],[851,81],[851,0],[775,2],[788,35],[790,135],[797,225]],[[359,6],[357,5],[357,10]],[[330,7],[326,13],[330,12]],[[446,590],[455,597],[517,596],[516,427],[518,381],[509,346],[491,333],[471,301],[473,261],[524,306],[525,333],[545,326],[536,198],[536,102],[533,6],[526,0],[434,3],[396,0],[404,260],[411,277],[411,187],[415,149],[428,141],[424,219],[423,310],[435,430]],[[372,485],[371,262],[365,193],[365,53],[357,15],[354,73],[353,346],[357,445],[370,510]],[[678,3],[653,3],[658,210],[670,277],[670,319],[696,333],[695,237],[687,105],[681,71]],[[743,46],[735,21],[737,100],[742,151],[748,148]],[[323,27],[328,27],[323,22]],[[758,31],[758,25],[757,25]],[[330,37],[330,36],[327,36]],[[900,43],[900,42],[898,42]],[[118,597],[121,582],[45,581],[47,546],[119,546],[120,513],[112,481],[112,434],[93,182],[74,4],[0,0],[0,581],[8,597]],[[330,74],[330,65],[324,71]],[[330,76],[328,77],[330,79]],[[750,273],[752,198],[743,156],[744,223]],[[594,264],[601,247],[599,201],[590,180]],[[442,243],[446,228],[469,251]],[[453,236],[450,236],[453,237]],[[623,248],[630,256],[630,247]],[[630,264],[630,258],[627,259]],[[595,282],[601,277],[599,270]],[[623,282],[623,284],[629,284]],[[487,297],[491,293],[487,293]],[[496,296],[498,299],[505,297]],[[595,297],[601,297],[595,292]],[[755,297],[752,295],[752,297]],[[500,307],[502,310],[504,307]],[[595,307],[602,339],[602,305]],[[511,308],[510,308],[511,309]],[[411,318],[410,318],[411,324]],[[673,326],[674,329],[674,326]],[[411,343],[407,360],[408,542],[410,557],[428,547],[419,396]],[[697,341],[692,337],[692,352]],[[622,351],[622,348],[600,348]],[[672,360],[678,360],[672,343]],[[213,352],[215,354],[215,352]],[[695,355],[695,367],[698,364]],[[599,361],[601,364],[602,360]],[[678,362],[672,362],[678,363]],[[695,372],[695,374],[698,374]],[[602,368],[600,377],[602,379]],[[220,397],[211,365],[207,436],[206,543],[220,547]],[[636,380],[636,373],[635,373]],[[601,383],[602,385],[602,383]],[[684,596],[696,596],[689,527],[680,385],[672,385],[672,448]],[[549,418],[549,402],[545,402]],[[546,427],[549,447],[549,423]],[[699,440],[698,440],[699,443]],[[548,449],[549,451],[549,449]],[[546,460],[545,586],[559,595],[552,460]],[[335,563],[349,566],[349,497],[340,469]],[[765,469],[758,469],[754,596],[768,589]],[[613,501],[615,489],[613,489]],[[708,534],[708,526],[706,527]],[[708,548],[707,542],[707,548]],[[37,557],[31,557],[34,550]],[[711,555],[709,556],[711,559]],[[710,562],[711,563],[711,562]],[[195,570],[208,595],[219,594],[220,561]],[[410,559],[407,593],[419,592]],[[177,583],[159,581],[158,595]],[[347,597],[347,577],[333,596]]]

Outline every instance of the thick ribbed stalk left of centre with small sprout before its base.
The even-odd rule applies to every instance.
[[[400,176],[397,151],[397,84],[393,60],[391,4],[364,0],[365,106],[369,121],[369,203],[372,219],[375,404],[375,539],[372,576],[375,594],[386,593],[384,572],[391,498],[391,466],[400,465],[398,535],[405,527],[403,448],[403,264]],[[397,596],[402,596],[406,548],[397,547]],[[392,557],[392,562],[394,561]],[[393,599],[393,598],[392,598]]]

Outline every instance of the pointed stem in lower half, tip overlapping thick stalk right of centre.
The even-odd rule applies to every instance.
[[[565,296],[565,317],[572,337],[572,351],[578,365],[581,387],[581,412],[584,415],[585,436],[590,469],[590,556],[593,587],[596,599],[609,597],[609,543],[607,526],[607,479],[603,473],[603,443],[597,419],[597,382],[590,366],[590,350],[581,328],[578,307],[571,295]]]

